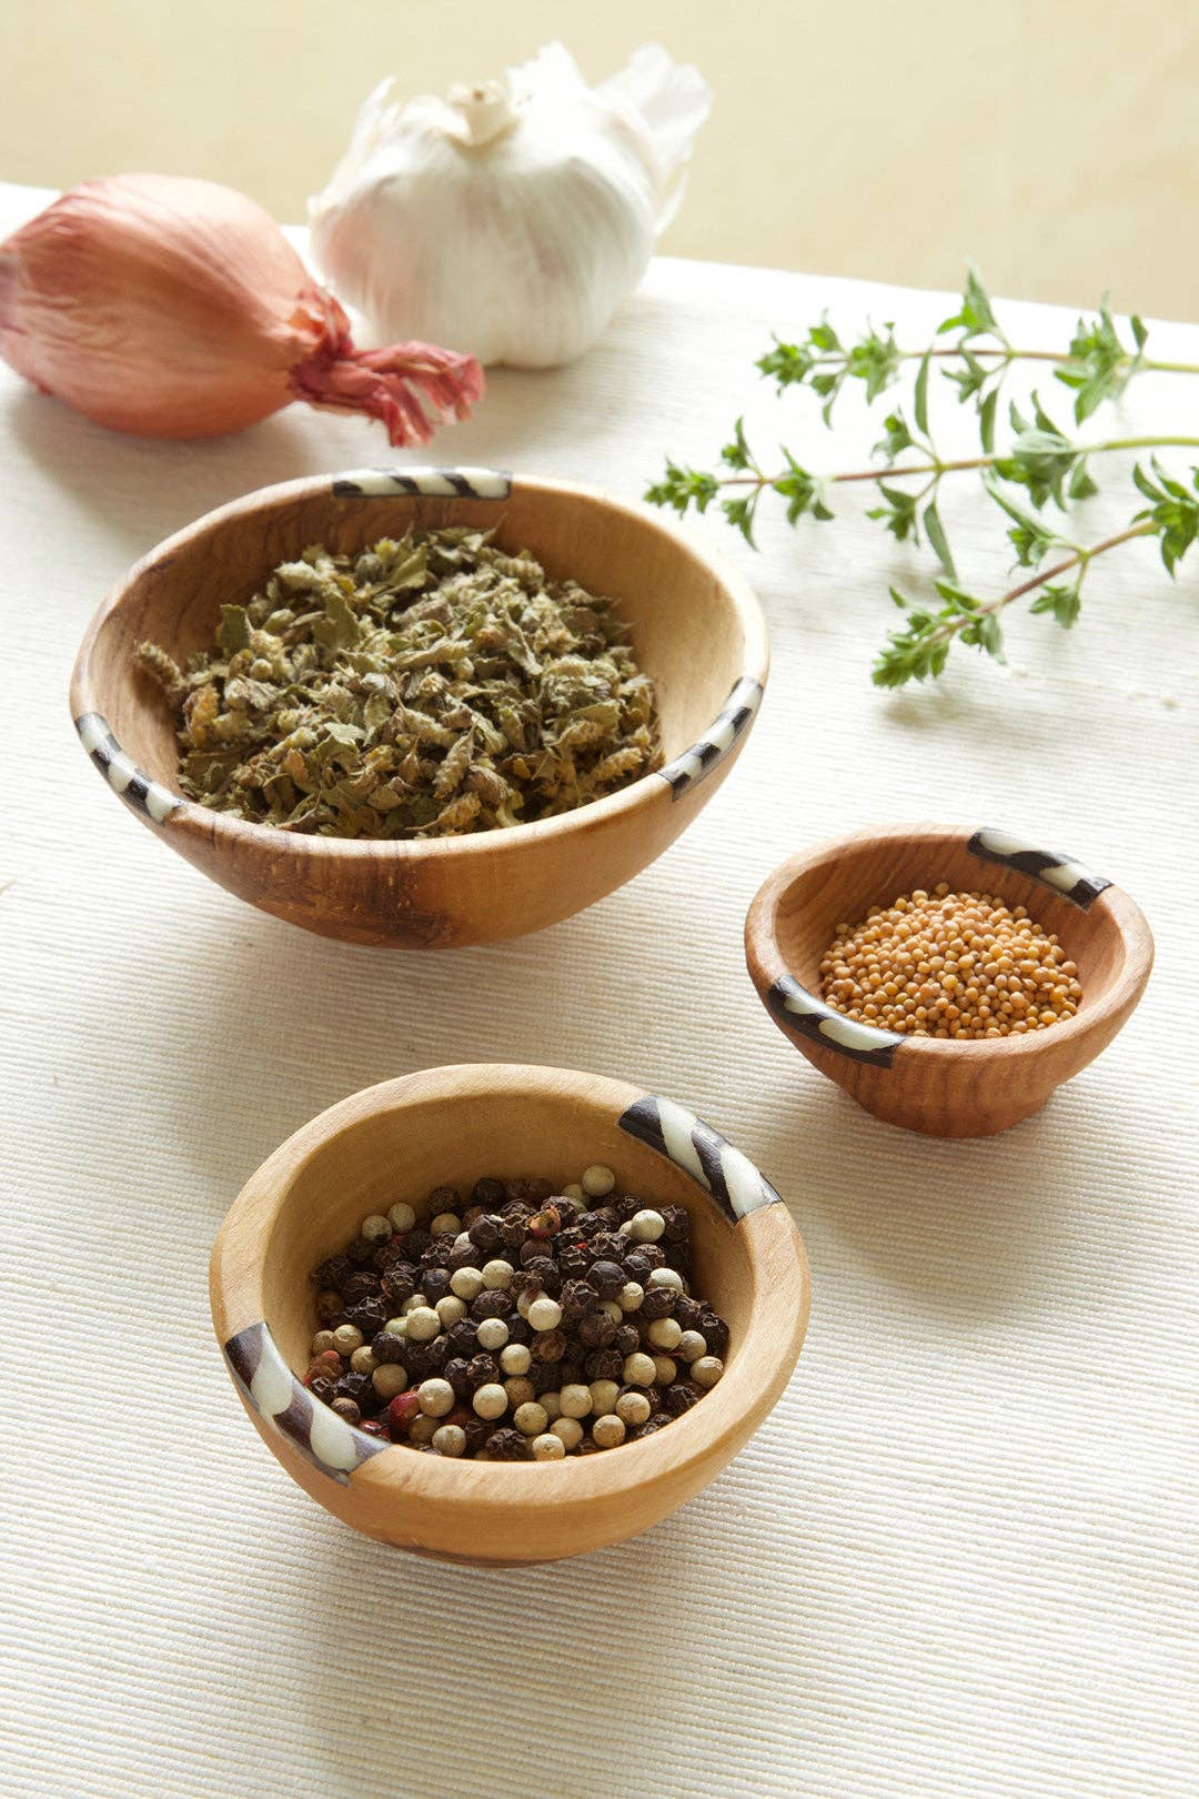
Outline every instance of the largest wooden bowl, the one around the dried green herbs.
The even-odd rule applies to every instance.
[[[182,662],[212,642],[223,601],[250,599],[306,545],[360,550],[408,525],[494,527],[550,576],[613,595],[656,684],[662,772],[557,819],[428,842],[293,837],[183,801],[169,709],[135,646],[151,639]],[[660,856],[733,765],[768,664],[750,585],[649,511],[487,470],[360,470],[264,488],[160,543],[92,621],[70,700],[110,786],[221,887],[325,937],[449,946],[554,925]]]

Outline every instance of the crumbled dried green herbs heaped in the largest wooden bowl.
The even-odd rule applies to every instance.
[[[223,606],[187,669],[142,644],[189,799],[322,837],[451,837],[600,799],[662,763],[609,599],[491,533],[315,545]]]

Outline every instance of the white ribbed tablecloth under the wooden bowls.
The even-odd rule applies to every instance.
[[[0,198],[4,227],[38,203]],[[764,441],[845,466],[861,419],[847,408],[834,444],[750,369],[823,306],[908,333],[946,311],[658,263],[588,358],[494,374],[437,455],[636,497],[663,450],[705,462],[753,401]],[[1014,317],[1068,335],[1048,308]],[[1156,344],[1199,360],[1199,331]],[[1194,430],[1194,392],[1145,378],[1129,428]],[[694,829],[543,935],[354,950],[155,842],[88,766],[67,682],[102,592],[169,531],[388,461],[370,425],[298,407],[214,444],[120,439],[0,371],[0,1785],[1194,1799],[1199,565],[1174,588],[1125,550],[1077,631],[1014,619],[1007,671],[958,651],[938,689],[886,698],[868,667],[902,550],[861,520],[764,522],[753,558],[705,522],[759,585],[775,667]],[[990,509],[967,486],[946,515],[1001,581]],[[742,968],[746,905],[782,856],[928,817],[1082,858],[1158,937],[1113,1049],[989,1142],[874,1123]],[[209,1245],[259,1160],[343,1094],[457,1060],[685,1101],[775,1180],[813,1261],[807,1347],[742,1455],[647,1536],[530,1572],[334,1524],[264,1454],[209,1324]]]

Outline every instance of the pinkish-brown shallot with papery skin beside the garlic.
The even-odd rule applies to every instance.
[[[484,376],[424,344],[358,351],[338,300],[262,207],[216,182],[84,182],[0,245],[0,354],[97,425],[218,437],[293,399],[428,443]]]

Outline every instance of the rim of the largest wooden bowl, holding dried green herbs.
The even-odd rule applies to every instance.
[[[715,718],[708,720],[705,729],[685,750],[679,750],[671,763],[662,768],[653,770],[647,775],[640,775],[629,786],[618,788],[615,793],[606,793],[602,799],[588,801],[584,806],[575,806],[573,811],[564,811],[554,819],[532,819],[525,824],[511,824],[502,831],[475,831],[462,837],[433,837],[433,838],[377,838],[377,837],[318,837],[291,831],[279,831],[270,824],[255,824],[248,819],[234,819],[230,813],[219,811],[214,806],[203,806],[200,801],[191,801],[176,788],[165,786],[165,783],[156,781],[151,775],[144,775],[140,770],[135,774],[142,775],[158,795],[160,806],[167,808],[167,815],[158,820],[165,828],[174,831],[185,831],[191,835],[203,837],[214,846],[225,846],[228,849],[241,851],[262,851],[270,849],[273,856],[379,856],[385,853],[395,853],[403,858],[421,856],[422,860],[444,860],[448,856],[478,856],[484,855],[487,847],[494,847],[496,842],[505,844],[532,844],[543,842],[552,837],[561,837],[579,824],[599,824],[609,819],[620,819],[624,815],[635,813],[644,806],[656,802],[663,790],[669,790],[671,783],[667,774],[676,766],[685,756],[688,756],[697,745],[719,729],[724,716],[724,709],[730,705],[733,694],[742,682],[751,682],[757,685],[757,696],[753,698],[753,707],[746,727],[741,734],[748,734],[753,725],[753,714],[757,712],[762,694],[766,691],[766,682],[769,676],[769,633],[766,628],[766,615],[762,612],[760,601],[750,585],[750,581],[741,574],[741,570],[712,543],[703,536],[692,536],[683,533],[671,518],[653,511],[636,500],[620,498],[609,493],[606,488],[566,480],[552,475],[509,475],[498,470],[458,470],[458,468],[433,468],[428,464],[397,464],[394,471],[363,471],[363,470],[333,470],[320,475],[304,475],[295,480],[273,482],[268,488],[253,488],[250,493],[239,495],[234,500],[226,500],[223,506],[216,506],[203,513],[200,518],[192,520],[183,529],[174,531],[171,536],[164,538],[144,556],[140,556],[120,579],[108,590],[104,599],[99,603],[92,619],[88,621],[86,631],[79,644],[75,662],[70,676],[70,712],[75,729],[81,729],[84,718],[99,716],[106,721],[106,711],[102,696],[95,693],[92,680],[92,655],[99,640],[101,630],[108,622],[113,612],[117,612],[126,601],[131,588],[149,574],[156,563],[167,556],[174,556],[183,545],[203,538],[207,533],[223,527],[230,520],[252,516],[266,506],[286,504],[291,500],[302,500],[307,497],[327,495],[331,488],[340,482],[354,482],[361,479],[363,473],[381,475],[394,473],[406,482],[419,482],[428,477],[439,480],[448,479],[475,479],[482,473],[494,475],[505,482],[505,497],[512,493],[514,488],[532,491],[536,495],[566,495],[577,497],[584,502],[595,502],[613,513],[620,513],[635,520],[640,527],[649,527],[671,540],[676,549],[696,558],[696,561],[706,565],[712,572],[717,588],[724,594],[726,601],[732,604],[733,613],[741,624],[744,653],[741,675],[733,680],[730,694],[723,707],[717,711]],[[336,495],[334,495],[336,497]],[[372,495],[388,498],[390,495]],[[480,504],[482,500],[493,500],[491,495],[471,495],[471,493],[444,493],[430,491],[422,493],[419,488],[399,488],[394,498],[410,498],[421,502],[422,498],[433,498],[453,504],[455,498],[466,504]],[[352,498],[347,498],[352,504]],[[503,498],[496,498],[494,504],[502,506]],[[117,745],[117,750],[120,747]],[[674,795],[671,795],[674,797]]]

